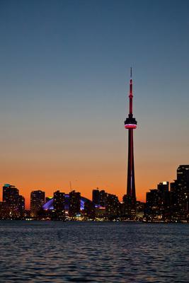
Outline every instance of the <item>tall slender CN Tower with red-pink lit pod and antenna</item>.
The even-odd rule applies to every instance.
[[[130,69],[130,114],[125,120],[125,129],[128,129],[128,167],[127,167],[127,197],[130,197],[132,204],[136,202],[135,182],[134,182],[134,149],[133,130],[137,128],[137,121],[132,114],[132,68]]]

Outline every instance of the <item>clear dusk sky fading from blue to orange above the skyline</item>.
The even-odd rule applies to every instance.
[[[122,200],[131,66],[137,200],[173,181],[189,163],[188,30],[188,0],[1,0],[1,187],[26,207],[70,181]]]

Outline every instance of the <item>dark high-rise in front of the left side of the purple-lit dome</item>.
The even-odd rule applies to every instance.
[[[64,220],[65,219],[65,193],[64,192],[59,192],[57,190],[54,192],[54,197],[53,197],[53,207],[55,210],[55,219],[57,220]]]

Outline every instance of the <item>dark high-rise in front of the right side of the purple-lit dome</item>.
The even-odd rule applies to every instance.
[[[72,190],[69,192],[69,216],[74,217],[80,214],[81,207],[81,193]]]

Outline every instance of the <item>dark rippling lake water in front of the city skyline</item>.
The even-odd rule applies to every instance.
[[[0,282],[189,282],[188,224],[0,221]]]

